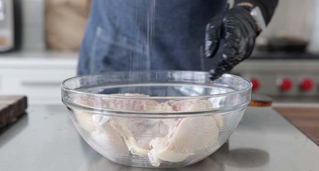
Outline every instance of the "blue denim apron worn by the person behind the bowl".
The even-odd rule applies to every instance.
[[[205,28],[226,0],[92,0],[78,74],[209,70]]]

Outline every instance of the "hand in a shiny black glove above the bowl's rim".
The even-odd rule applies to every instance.
[[[213,58],[223,40],[222,58],[211,70],[212,80],[229,72],[249,57],[258,36],[256,22],[244,7],[237,6],[215,16],[206,27],[205,55]]]

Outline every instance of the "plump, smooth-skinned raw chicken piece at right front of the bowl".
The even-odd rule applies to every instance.
[[[152,150],[148,156],[155,165],[160,160],[181,162],[190,155],[215,147],[218,132],[211,116],[184,118],[167,136],[151,141]]]

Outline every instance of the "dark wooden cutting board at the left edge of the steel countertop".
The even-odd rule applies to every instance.
[[[26,96],[0,96],[0,128],[16,121],[26,109]]]

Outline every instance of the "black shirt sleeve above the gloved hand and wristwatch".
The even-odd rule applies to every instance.
[[[258,6],[263,13],[266,24],[271,20],[278,4],[278,0],[235,0],[235,5],[243,2],[249,2],[254,6]]]

